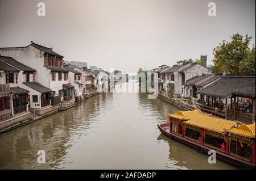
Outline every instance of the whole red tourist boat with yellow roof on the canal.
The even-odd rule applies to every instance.
[[[169,114],[170,122],[158,124],[160,132],[199,153],[216,151],[216,158],[241,169],[255,169],[255,123],[205,115],[199,110]]]

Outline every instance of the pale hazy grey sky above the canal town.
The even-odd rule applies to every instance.
[[[209,2],[217,16],[208,16]],[[33,40],[64,60],[126,73],[200,54],[212,64],[213,48],[237,32],[255,44],[255,0],[0,0],[0,47]]]

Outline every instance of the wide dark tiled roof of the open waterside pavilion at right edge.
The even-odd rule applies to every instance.
[[[255,75],[224,76],[197,93],[217,98],[230,98],[233,95],[255,98]]]

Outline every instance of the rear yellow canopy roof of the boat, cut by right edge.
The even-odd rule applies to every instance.
[[[235,128],[225,128],[224,129],[226,132],[231,133],[231,134],[236,134],[238,136],[243,136],[247,138],[255,138],[255,123],[245,125],[240,123],[240,126]]]

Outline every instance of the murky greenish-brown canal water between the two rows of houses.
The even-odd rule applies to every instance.
[[[98,94],[1,134],[0,169],[236,169],[163,136],[157,124],[179,109],[128,85],[134,93]]]

